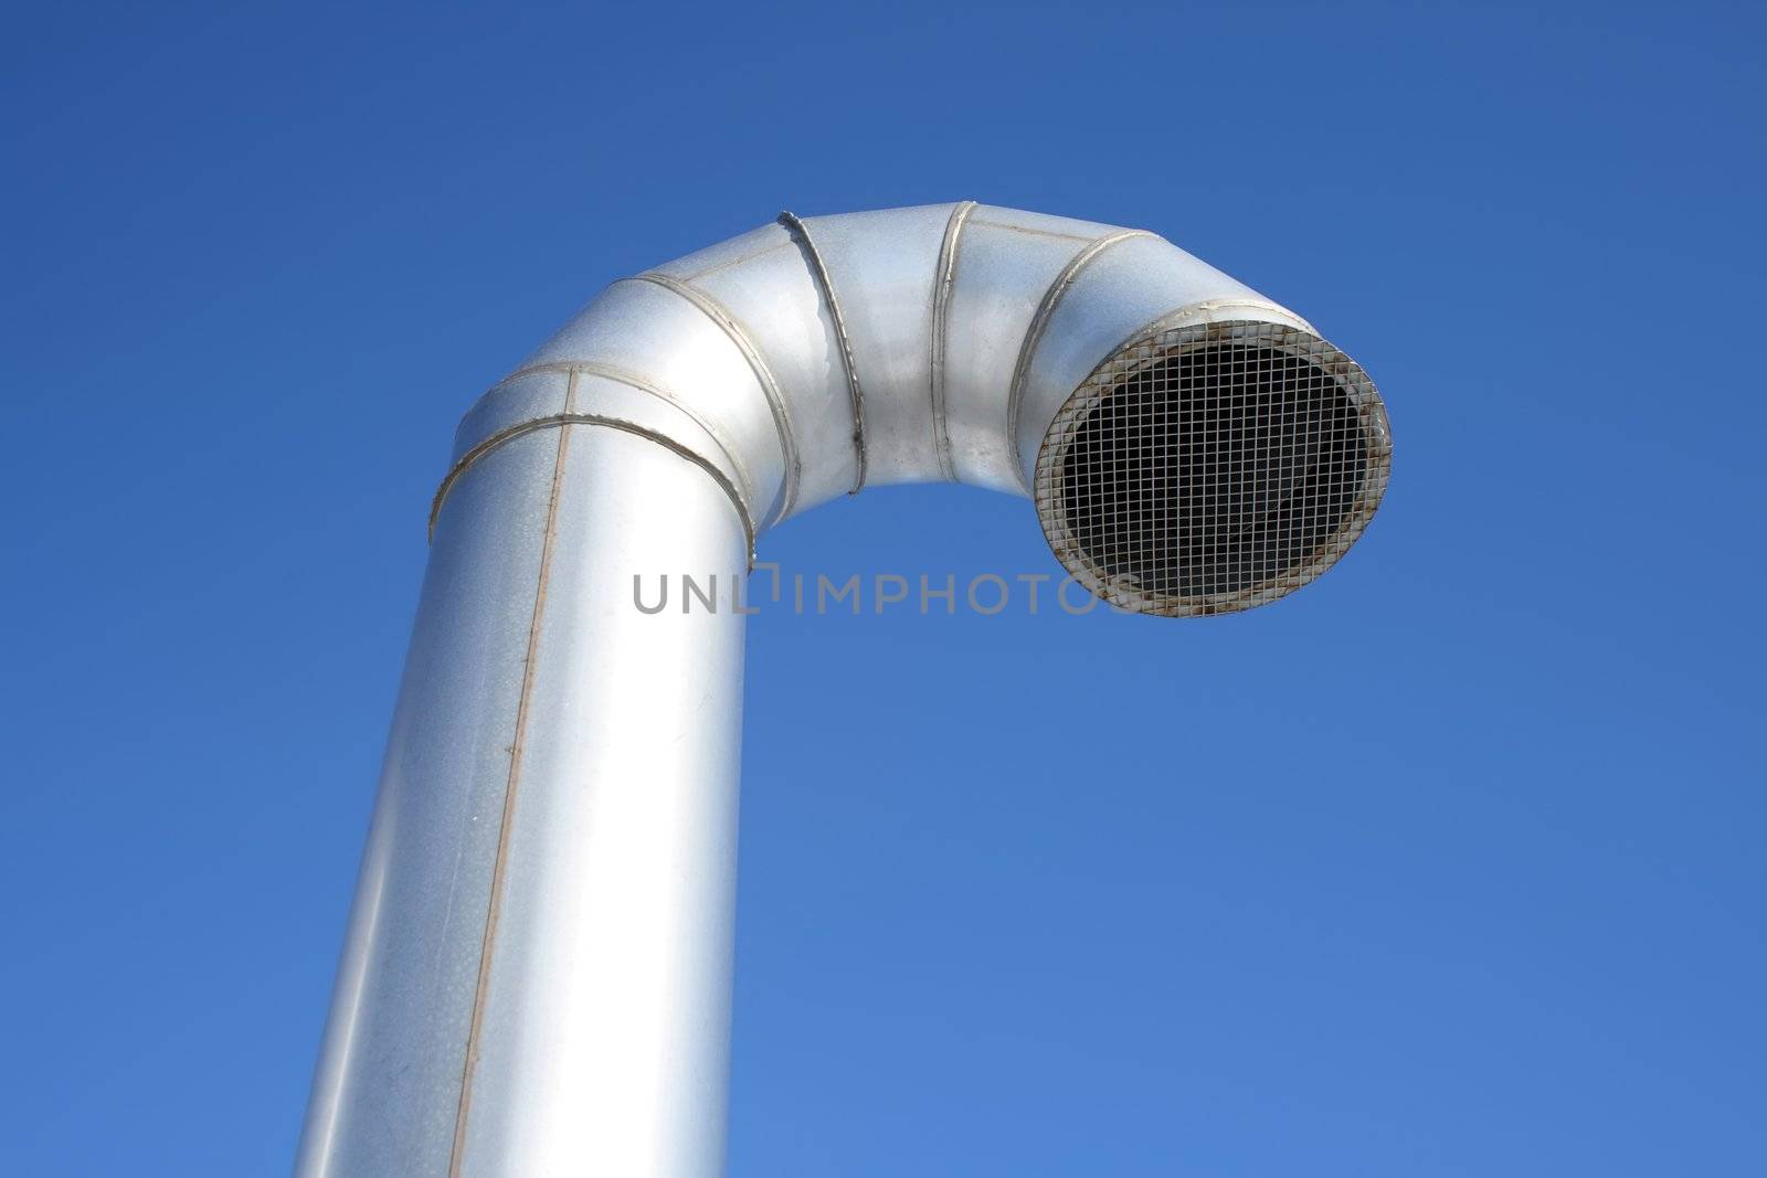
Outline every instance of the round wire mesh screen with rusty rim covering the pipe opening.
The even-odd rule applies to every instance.
[[[1133,341],[1055,415],[1037,516],[1057,558],[1140,613],[1233,613],[1320,576],[1368,526],[1392,445],[1368,374],[1278,323]]]

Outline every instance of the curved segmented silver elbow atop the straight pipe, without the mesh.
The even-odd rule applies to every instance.
[[[456,472],[511,431],[615,424],[707,468],[751,540],[869,484],[1030,495],[1088,376],[1143,337],[1209,323],[1323,343],[1143,230],[974,201],[783,214],[608,286],[466,413]],[[1384,447],[1384,415],[1364,426]]]

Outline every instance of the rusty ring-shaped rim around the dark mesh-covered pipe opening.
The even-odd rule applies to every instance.
[[[1320,544],[1311,558],[1281,576],[1232,593],[1200,597],[1145,593],[1138,588],[1127,588],[1117,578],[1099,569],[1069,532],[1067,517],[1062,510],[1067,452],[1092,412],[1117,389],[1129,383],[1129,376],[1157,360],[1182,355],[1191,348],[1226,341],[1248,341],[1285,351],[1313,364],[1338,381],[1339,389],[1355,406],[1357,420],[1362,426],[1362,445],[1366,447],[1368,461],[1362,489],[1352,509],[1345,514],[1345,523],[1338,532]],[[1369,380],[1361,364],[1325,339],[1285,323],[1223,320],[1186,327],[1161,327],[1156,323],[1092,369],[1092,374],[1074,389],[1055,413],[1055,420],[1050,422],[1050,429],[1044,433],[1043,445],[1037,450],[1034,482],[1037,521],[1043,525],[1043,535],[1050,542],[1055,558],[1062,562],[1062,567],[1067,569],[1074,581],[1127,613],[1200,618],[1263,606],[1318,579],[1320,574],[1338,563],[1338,558],[1355,544],[1368,528],[1368,521],[1375,517],[1375,512],[1380,509],[1380,498],[1387,491],[1387,475],[1391,470],[1392,431],[1387,424],[1387,408],[1380,401],[1375,381]]]

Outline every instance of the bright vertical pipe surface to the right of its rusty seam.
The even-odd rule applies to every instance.
[[[465,1178],[723,1171],[747,537],[689,459],[571,426]],[[670,597],[657,613],[643,604]],[[684,595],[684,578],[714,593]]]

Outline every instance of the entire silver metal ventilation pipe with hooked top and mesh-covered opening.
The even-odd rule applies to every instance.
[[[721,1171],[758,532],[970,482],[1119,606],[1228,613],[1336,562],[1389,454],[1355,362],[1138,230],[785,214],[615,283],[459,427],[297,1173]]]

